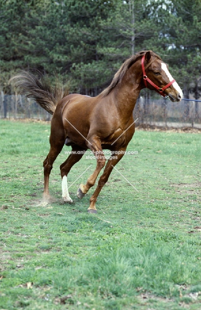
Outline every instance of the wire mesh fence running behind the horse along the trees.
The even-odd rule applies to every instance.
[[[136,125],[161,127],[193,127],[201,129],[201,100],[183,99],[171,102],[168,99],[147,99],[139,97],[133,110],[138,118]],[[34,100],[21,95],[0,96],[0,118],[32,118],[49,121],[51,115]]]

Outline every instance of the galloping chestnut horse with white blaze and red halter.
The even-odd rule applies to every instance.
[[[146,71],[146,73],[145,73]],[[168,65],[152,51],[141,51],[126,60],[114,75],[111,84],[96,97],[79,94],[62,94],[58,87],[53,89],[46,78],[36,78],[23,72],[13,78],[21,92],[27,93],[46,111],[51,119],[50,151],[43,162],[44,193],[49,197],[49,175],[53,162],[64,144],[72,146],[72,153],[60,166],[62,197],[72,202],[69,196],[67,175],[88,148],[96,154],[97,166],[87,183],[81,184],[77,196],[83,198],[95,184],[105,166],[103,149],[118,151],[108,160],[95,192],[90,198],[89,213],[96,213],[96,200],[107,182],[114,166],[123,157],[135,132],[133,109],[142,88],[156,90],[172,101],[182,99],[182,91],[168,71]],[[79,151],[79,152],[78,152]],[[117,153],[117,152],[115,152]],[[115,154],[116,155],[116,154]]]

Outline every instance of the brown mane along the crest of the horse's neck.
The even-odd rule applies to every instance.
[[[135,55],[131,56],[129,59],[127,59],[122,65],[121,68],[115,73],[114,78],[111,82],[111,84],[104,89],[104,91],[101,92],[101,96],[105,97],[109,95],[109,93],[114,89],[114,87],[118,84],[121,83],[124,75],[127,73],[127,70],[143,55],[145,55],[147,52],[150,52],[151,56],[154,58],[158,58],[162,60],[159,55],[154,53],[153,51],[140,51],[136,53]]]

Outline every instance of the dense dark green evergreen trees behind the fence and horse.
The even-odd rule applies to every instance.
[[[97,95],[121,64],[152,50],[184,98],[201,95],[201,0],[0,0],[0,91],[20,70]]]

